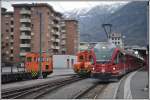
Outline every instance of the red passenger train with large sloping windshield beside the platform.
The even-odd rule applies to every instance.
[[[97,44],[92,52],[94,62],[91,77],[101,80],[118,79],[144,64],[142,58],[116,48],[111,43]]]

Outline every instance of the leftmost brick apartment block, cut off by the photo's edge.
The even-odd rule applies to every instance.
[[[13,12],[1,8],[1,58],[2,62],[14,62],[14,21]]]

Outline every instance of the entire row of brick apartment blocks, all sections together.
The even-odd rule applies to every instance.
[[[79,41],[76,20],[64,19],[61,13],[46,3],[12,6],[13,12],[2,9],[3,60],[23,62],[28,52],[38,53],[40,33],[43,52],[50,55],[76,54]]]

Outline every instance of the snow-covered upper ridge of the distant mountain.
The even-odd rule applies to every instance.
[[[126,3],[117,3],[117,4],[113,4],[113,5],[97,5],[97,6],[93,6],[91,7],[89,5],[89,7],[86,8],[82,8],[82,9],[73,9],[71,11],[65,12],[64,16],[66,18],[79,18],[79,17],[90,17],[91,14],[108,14],[108,13],[113,13],[116,10],[118,10],[119,8],[121,8],[123,5],[125,5]]]

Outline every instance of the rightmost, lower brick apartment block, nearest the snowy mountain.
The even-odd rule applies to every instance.
[[[75,55],[79,50],[78,21],[65,19],[62,21],[61,51],[63,54]]]

